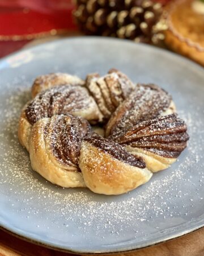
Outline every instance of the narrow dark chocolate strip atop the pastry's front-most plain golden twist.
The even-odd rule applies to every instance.
[[[125,150],[120,144],[111,141],[110,139],[105,139],[100,135],[95,133],[88,134],[84,141],[89,142],[92,146],[99,148],[106,154],[111,155],[113,158],[120,160],[124,163],[130,164],[138,168],[145,168],[145,162],[139,156],[131,155],[128,151]]]

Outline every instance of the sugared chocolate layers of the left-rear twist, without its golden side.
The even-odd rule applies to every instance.
[[[41,118],[56,114],[75,114],[91,108],[93,102],[86,88],[80,85],[62,85],[37,94],[25,109],[25,115],[33,125]]]

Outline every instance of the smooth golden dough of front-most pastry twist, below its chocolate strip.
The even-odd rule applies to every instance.
[[[120,195],[150,180],[147,168],[138,168],[113,158],[88,142],[80,150],[79,167],[84,182],[91,191],[105,195]]]

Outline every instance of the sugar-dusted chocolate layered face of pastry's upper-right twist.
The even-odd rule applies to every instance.
[[[162,114],[171,104],[172,97],[154,84],[138,84],[130,96],[118,106],[106,127],[106,137],[130,129],[137,123]]]

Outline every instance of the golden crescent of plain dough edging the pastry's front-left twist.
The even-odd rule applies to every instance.
[[[86,187],[82,173],[76,171],[76,166],[63,164],[52,154],[49,139],[44,138],[49,122],[50,118],[40,119],[32,127],[29,154],[33,170],[61,187]]]

